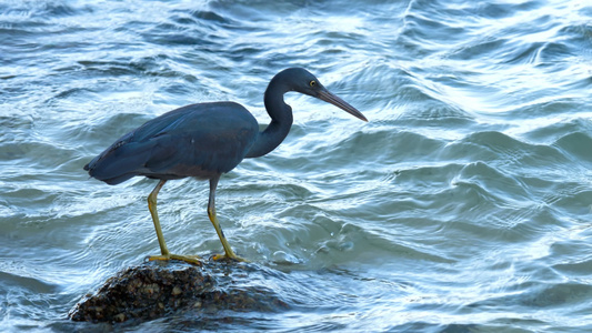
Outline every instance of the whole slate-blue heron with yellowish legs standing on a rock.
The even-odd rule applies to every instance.
[[[243,261],[230,246],[215,213],[215,189],[220,176],[243,159],[259,158],[274,150],[292,127],[292,108],[283,95],[300,92],[329,102],[363,121],[355,108],[331,93],[319,79],[302,68],[289,68],[275,74],[264,93],[264,105],[271,122],[260,131],[255,118],[235,102],[197,103],[169,111],[149,120],[119,138],[84,165],[90,176],[116,185],[133,176],[158,180],[148,195],[148,209],[154,223],[160,255],[149,260],[181,260],[199,264],[197,255],[169,252],[160,226],[157,196],[169,180],[192,176],[210,181],[208,216],[213,224],[224,254],[214,260]]]

